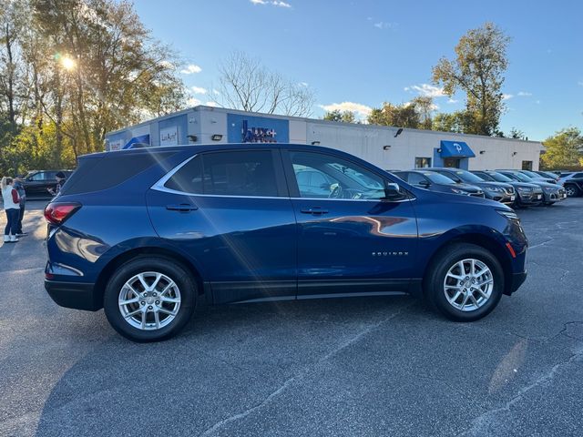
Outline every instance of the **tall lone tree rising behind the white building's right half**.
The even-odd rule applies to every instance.
[[[486,23],[461,37],[454,60],[443,57],[433,68],[433,81],[447,96],[465,92],[465,133],[491,136],[498,131],[509,41],[496,25]]]

